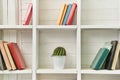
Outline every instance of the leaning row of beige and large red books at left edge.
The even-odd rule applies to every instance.
[[[17,43],[0,40],[0,70],[22,70],[26,64]]]

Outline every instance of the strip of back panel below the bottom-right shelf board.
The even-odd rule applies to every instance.
[[[86,75],[82,75],[81,80],[120,80],[120,76],[119,75],[104,75],[104,74],[86,74]]]

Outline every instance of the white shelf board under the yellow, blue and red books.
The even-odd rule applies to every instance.
[[[37,29],[77,29],[76,25],[39,25]]]

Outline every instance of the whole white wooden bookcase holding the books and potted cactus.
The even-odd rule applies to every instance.
[[[32,20],[23,26],[30,2]],[[61,5],[73,2],[72,25],[56,25]],[[17,42],[27,64],[25,70],[0,71],[0,80],[119,80],[120,70],[90,69],[106,41],[120,41],[119,5],[119,0],[0,0],[0,39]],[[57,46],[67,51],[63,70],[53,69],[51,54]]]

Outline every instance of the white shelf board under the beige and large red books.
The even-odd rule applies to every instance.
[[[14,71],[9,71],[9,70],[0,71],[0,74],[31,74],[31,73],[32,73],[31,69],[14,70]]]

